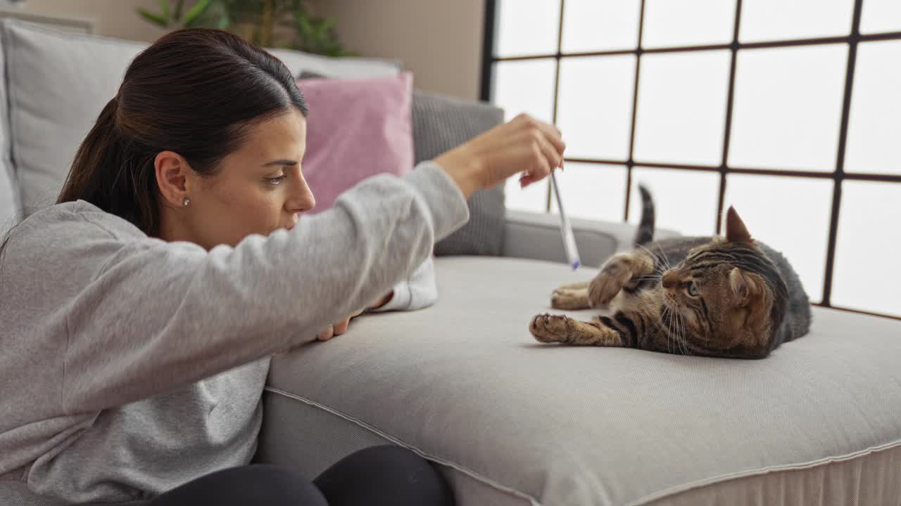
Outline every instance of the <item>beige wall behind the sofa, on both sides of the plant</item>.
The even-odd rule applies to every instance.
[[[419,89],[478,98],[485,0],[312,1],[321,14],[338,18],[349,49],[400,59]],[[138,6],[159,9],[157,0],[27,0],[13,9],[93,19],[100,35],[153,41],[163,31],[138,17]]]

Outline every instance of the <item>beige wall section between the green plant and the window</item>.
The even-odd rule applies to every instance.
[[[362,56],[396,58],[415,86],[475,100],[485,0],[314,0],[338,18],[341,42]]]

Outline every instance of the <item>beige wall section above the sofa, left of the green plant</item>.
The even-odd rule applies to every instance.
[[[96,33],[106,37],[132,41],[154,41],[165,31],[143,21],[134,12],[136,7],[151,11],[159,9],[157,0],[26,0],[7,11],[28,14],[74,17],[94,21]]]

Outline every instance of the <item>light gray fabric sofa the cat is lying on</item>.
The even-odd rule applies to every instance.
[[[52,202],[141,47],[4,23],[0,217]],[[295,73],[397,70],[278,56]],[[633,231],[575,225],[591,267]],[[509,212],[503,257],[436,260],[431,308],[367,315],[276,357],[257,459],[313,477],[402,445],[462,505],[901,503],[901,322],[815,309],[808,336],[760,361],[539,345],[526,324],[551,289],[595,272],[563,261],[554,217]]]

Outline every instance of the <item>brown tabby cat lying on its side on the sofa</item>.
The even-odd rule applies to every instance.
[[[540,314],[542,342],[641,348],[681,355],[763,358],[810,328],[810,302],[785,257],[751,239],[738,213],[725,238],[652,242],[654,204],[645,188],[631,252],[610,258],[591,282],[560,286],[555,309],[597,308],[593,321]],[[672,262],[672,263],[670,263]]]

